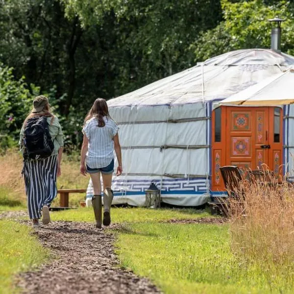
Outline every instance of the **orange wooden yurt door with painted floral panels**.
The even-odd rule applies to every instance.
[[[219,171],[224,165],[252,170],[269,167],[282,174],[280,108],[221,107],[212,114],[212,126],[213,191],[224,190]]]

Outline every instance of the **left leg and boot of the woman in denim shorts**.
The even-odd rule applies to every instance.
[[[92,206],[94,209],[96,227],[101,228],[102,226],[102,199],[101,199],[101,181],[100,172],[90,173],[94,196],[92,197]]]

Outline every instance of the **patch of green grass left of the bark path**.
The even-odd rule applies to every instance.
[[[14,221],[0,221],[0,294],[17,292],[13,275],[44,263],[49,251],[31,236],[30,228]]]

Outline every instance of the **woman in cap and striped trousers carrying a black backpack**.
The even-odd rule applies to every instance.
[[[62,128],[50,112],[48,98],[38,96],[20,133],[24,155],[25,192],[33,227],[50,222],[49,206],[57,195],[56,177],[60,176],[63,151]]]

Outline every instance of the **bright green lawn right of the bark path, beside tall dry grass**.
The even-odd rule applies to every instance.
[[[272,276],[267,265],[237,259],[228,225],[133,223],[118,231],[116,245],[123,267],[166,294],[293,293],[294,269]]]

